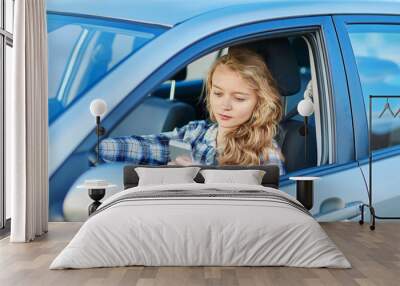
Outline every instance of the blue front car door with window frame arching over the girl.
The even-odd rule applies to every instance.
[[[156,83],[165,80],[187,63],[227,45],[261,37],[288,37],[301,33],[315,35],[310,42],[315,41],[311,43],[314,51],[314,76],[321,99],[323,98],[321,108],[324,110],[324,121],[319,134],[325,137],[323,140],[320,138],[323,141],[323,150],[319,151],[321,156],[318,165],[282,176],[281,189],[295,195],[296,186],[289,179],[290,176],[319,176],[321,179],[315,183],[314,207],[311,212],[319,220],[341,220],[358,216],[359,205],[367,200],[367,193],[355,157],[350,100],[332,18],[302,17],[259,23],[252,23],[249,19],[250,21],[251,23],[228,27],[222,32],[209,32],[202,40],[191,43],[170,57],[167,64],[156,68],[133,94],[141,96],[138,92],[143,92],[144,87],[151,90]],[[163,36],[163,41],[172,41],[172,38],[168,39],[170,33]],[[155,39],[153,44],[159,39]],[[323,157],[326,158],[325,161]]]

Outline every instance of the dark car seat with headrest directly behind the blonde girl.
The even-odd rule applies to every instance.
[[[300,71],[296,54],[287,38],[266,39],[241,44],[234,48],[236,47],[253,50],[264,58],[281,96],[293,96],[301,92]],[[281,120],[276,136],[285,157],[287,172],[315,166],[317,162],[315,127],[313,125],[308,126],[306,144],[304,123],[293,120],[292,117],[293,114],[288,114]],[[307,150],[305,150],[306,147]],[[305,156],[306,154],[307,156]]]

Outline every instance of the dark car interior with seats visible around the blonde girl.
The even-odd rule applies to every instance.
[[[311,81],[310,57],[305,38],[294,36],[263,39],[230,48],[235,47],[244,47],[260,54],[277,82],[284,116],[276,140],[285,157],[287,172],[316,166],[315,117],[318,114],[309,116],[305,136],[303,117],[297,112],[297,104],[303,99],[307,84]],[[221,54],[222,50],[217,56]],[[189,66],[146,96],[108,136],[157,134],[183,126],[191,120],[206,119],[204,78],[187,80]]]

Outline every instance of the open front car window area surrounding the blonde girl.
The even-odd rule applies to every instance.
[[[241,45],[246,47],[246,43]],[[276,139],[283,151],[287,171],[290,173],[327,163],[327,160],[322,158],[323,149],[326,148],[323,145],[325,135],[322,132],[323,120],[326,120],[321,112],[321,106],[324,105],[321,100],[323,92],[318,91],[318,85],[313,80],[317,77],[318,71],[312,63],[314,57],[307,38],[303,35],[295,35],[249,42],[249,45],[252,49],[259,49],[260,55],[264,50],[266,51],[267,66],[274,77],[281,79],[277,80],[277,84],[281,90],[284,114]],[[214,61],[226,54],[228,49],[229,47],[226,47],[197,59],[157,86],[119,124],[117,128],[119,131],[111,135],[156,134],[171,131],[191,120],[208,119],[204,104],[204,83]],[[271,55],[274,56],[273,62],[271,58],[268,58]],[[284,59],[286,63],[282,62]],[[314,113],[308,117],[305,134],[304,118],[298,114],[297,105],[307,96],[314,104]],[[156,107],[159,108],[158,114],[165,113],[165,116],[163,118],[159,116],[159,119],[147,118],[151,113],[150,110],[155,110]],[[136,118],[135,114],[141,119]],[[134,124],[138,120],[144,122],[142,126],[149,128],[139,128],[139,130]],[[155,122],[157,120],[164,121]],[[129,130],[123,126],[129,126]],[[299,154],[302,155],[299,156]]]

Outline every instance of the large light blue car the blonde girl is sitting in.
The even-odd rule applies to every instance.
[[[311,213],[355,219],[373,201],[396,215],[400,165],[400,3],[376,1],[47,1],[50,220],[83,220],[76,187],[106,179],[121,191],[126,163],[95,164],[96,98],[105,137],[156,134],[207,118],[203,85],[232,46],[263,56],[284,106],[277,141],[293,176],[318,176]],[[370,98],[370,95],[382,96]],[[311,97],[308,120],[298,103]],[[372,123],[369,126],[371,100]],[[397,214],[398,215],[398,214]]]

